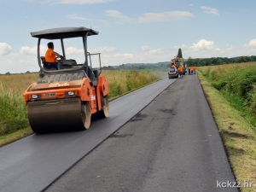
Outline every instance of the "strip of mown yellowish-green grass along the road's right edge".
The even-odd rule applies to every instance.
[[[241,182],[241,184],[244,181],[253,183],[253,188],[241,188],[241,191],[256,191],[255,128],[247,119],[242,117],[241,112],[226,101],[224,96],[212,86],[201,72],[198,71],[197,74],[218,125],[218,131],[223,139],[224,148],[237,182]]]

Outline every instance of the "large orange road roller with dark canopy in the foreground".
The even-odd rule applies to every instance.
[[[101,53],[87,51],[87,38],[97,34],[84,26],[31,32],[33,38],[38,38],[40,70],[38,82],[26,89],[24,100],[29,123],[35,133],[85,130],[90,127],[92,114],[96,119],[108,117],[109,86],[101,75]],[[81,39],[84,49],[81,63],[66,57],[64,42],[67,38]],[[40,55],[41,39],[60,41],[62,55],[56,58],[55,63],[45,61],[44,55]],[[92,56],[98,57],[99,67],[91,66]]]

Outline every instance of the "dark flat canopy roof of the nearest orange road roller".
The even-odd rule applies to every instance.
[[[54,29],[46,29],[39,32],[31,32],[33,38],[45,38],[45,39],[60,39],[60,38],[77,38],[83,37],[86,32],[88,36],[97,35],[99,32],[96,32],[92,29],[85,28],[84,26],[80,27],[61,27]]]

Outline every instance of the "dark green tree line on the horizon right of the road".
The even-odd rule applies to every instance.
[[[189,56],[188,61],[186,62],[188,66],[215,66],[223,65],[229,63],[241,63],[241,62],[253,62],[256,61],[256,56],[237,56],[237,57],[212,57],[212,58],[203,58],[203,59],[192,59]]]

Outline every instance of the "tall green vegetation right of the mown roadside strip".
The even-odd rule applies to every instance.
[[[256,63],[198,67],[230,104],[256,126]]]

